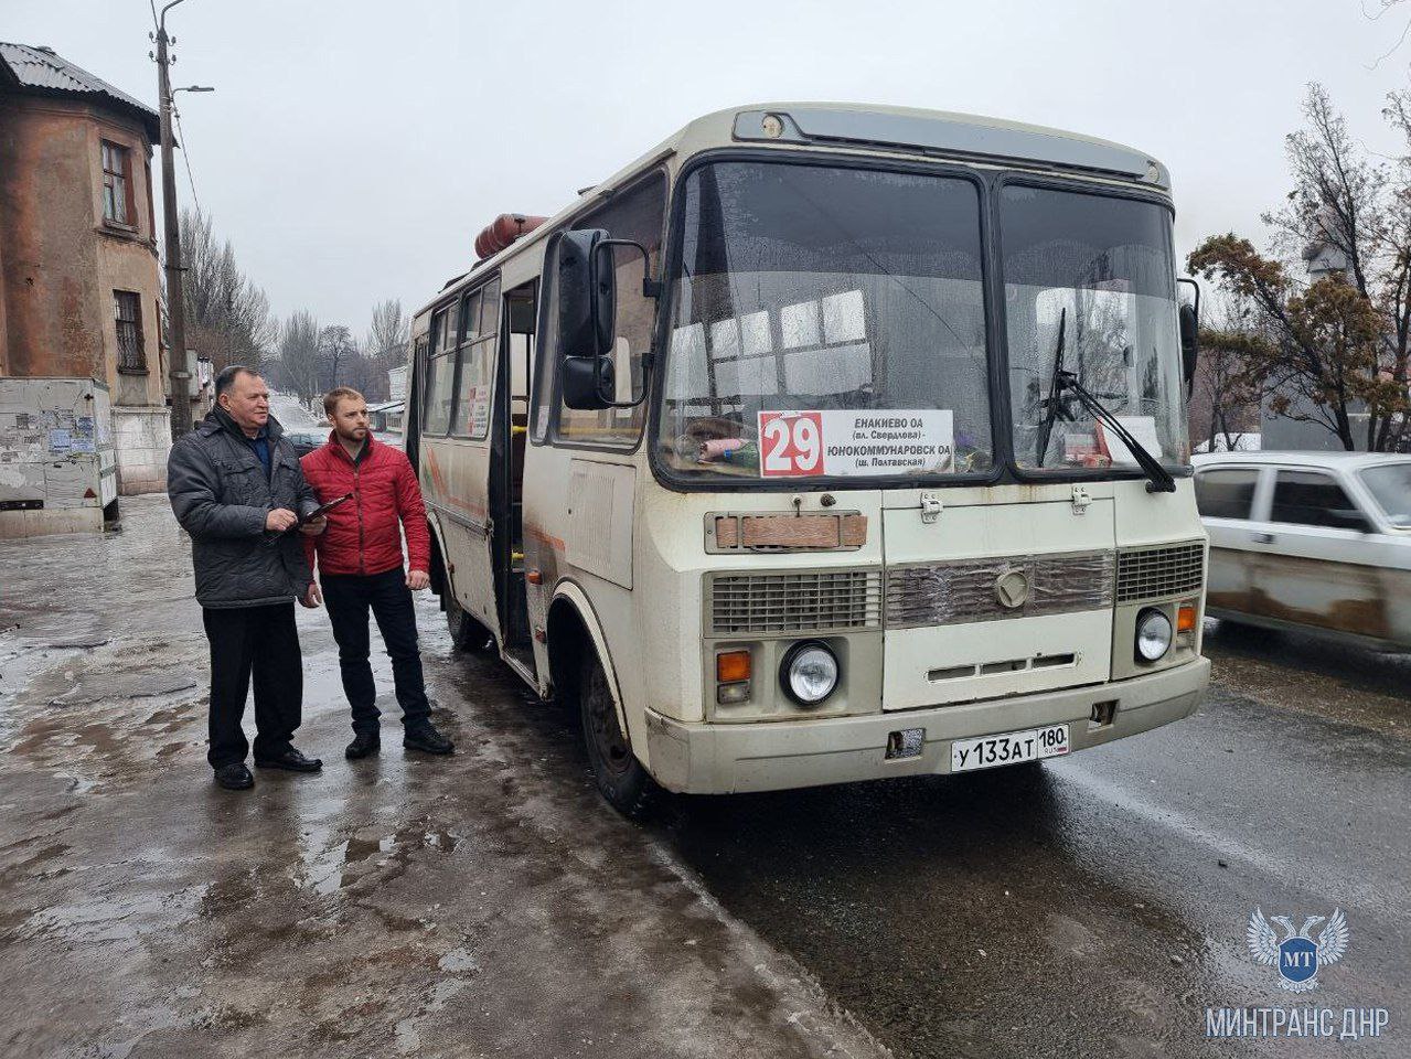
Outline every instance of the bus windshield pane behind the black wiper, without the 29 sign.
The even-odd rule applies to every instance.
[[[1153,457],[1188,463],[1167,207],[1006,185],[999,223],[1019,467],[1137,464],[1060,384],[1060,371]]]

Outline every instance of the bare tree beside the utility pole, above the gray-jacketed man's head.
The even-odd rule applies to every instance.
[[[236,264],[230,241],[217,241],[210,217],[183,210],[181,254],[186,268],[186,343],[212,358],[216,369],[229,364],[260,367],[278,337],[270,300]]]

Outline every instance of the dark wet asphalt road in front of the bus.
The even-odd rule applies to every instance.
[[[717,801],[669,836],[897,1056],[1404,1056],[1408,798],[1405,742],[1218,685],[1185,722],[1038,771]],[[1315,994],[1253,965],[1256,905],[1346,912]],[[1206,1005],[1295,1000],[1387,1007],[1393,1035],[1204,1038]]]

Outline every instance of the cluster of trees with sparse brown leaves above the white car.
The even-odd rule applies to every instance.
[[[1395,93],[1386,114],[1411,144],[1408,107]],[[1271,395],[1276,413],[1325,427],[1348,450],[1359,440],[1373,451],[1397,448],[1411,412],[1411,164],[1373,164],[1318,85],[1304,116],[1307,127],[1287,140],[1288,204],[1263,217],[1273,252],[1229,233],[1206,238],[1187,267],[1219,276],[1247,306],[1242,372]],[[1300,257],[1326,264],[1321,278],[1304,279]],[[1353,436],[1359,409],[1362,439]]]

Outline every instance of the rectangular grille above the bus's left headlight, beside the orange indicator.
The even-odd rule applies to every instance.
[[[714,574],[707,582],[707,612],[713,636],[876,629],[882,573]]]

